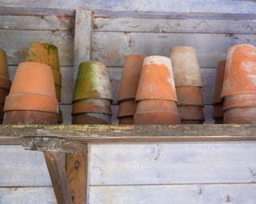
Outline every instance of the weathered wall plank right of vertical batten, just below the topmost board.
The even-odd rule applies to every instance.
[[[256,33],[254,14],[96,12],[95,31],[149,33]],[[228,25],[228,26],[227,26]]]

